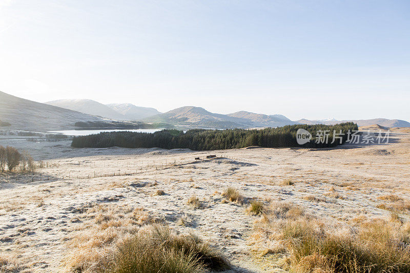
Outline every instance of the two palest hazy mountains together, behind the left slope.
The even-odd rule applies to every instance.
[[[160,114],[154,108],[139,107],[131,103],[103,104],[91,99],[59,99],[46,102],[73,111],[117,120],[137,120]]]

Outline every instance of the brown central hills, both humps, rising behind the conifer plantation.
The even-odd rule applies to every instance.
[[[191,128],[255,128],[277,127],[296,122],[282,115],[263,115],[250,112],[237,112],[229,115],[211,113],[203,108],[185,106],[169,112],[144,119],[145,122],[166,122]]]

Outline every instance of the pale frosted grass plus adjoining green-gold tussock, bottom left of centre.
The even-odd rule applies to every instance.
[[[65,271],[184,273],[230,267],[209,244],[193,234],[176,235],[168,226],[153,224],[143,209],[96,205],[83,218],[92,225],[86,224],[68,241],[71,253],[62,264]]]

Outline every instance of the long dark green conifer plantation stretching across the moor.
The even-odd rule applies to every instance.
[[[312,134],[312,140],[299,145],[296,132],[299,128]],[[330,141],[316,143],[316,135],[321,131],[329,131]],[[103,132],[88,136],[73,138],[72,146],[77,148],[108,148],[118,146],[122,148],[163,148],[163,149],[191,149],[195,151],[238,149],[247,146],[261,146],[264,148],[295,147],[326,148],[336,146],[339,141],[331,143],[334,131],[342,132],[342,143],[347,139],[347,132],[358,130],[357,124],[345,122],[336,125],[297,124],[280,128],[262,130],[227,129],[205,130],[193,129],[186,133],[179,130],[162,130],[155,133],[134,132]]]

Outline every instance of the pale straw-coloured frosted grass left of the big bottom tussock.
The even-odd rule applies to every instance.
[[[79,218],[86,222],[67,242],[70,251],[62,264],[65,271],[104,272],[117,244],[154,221],[142,208],[105,204],[86,209]]]

